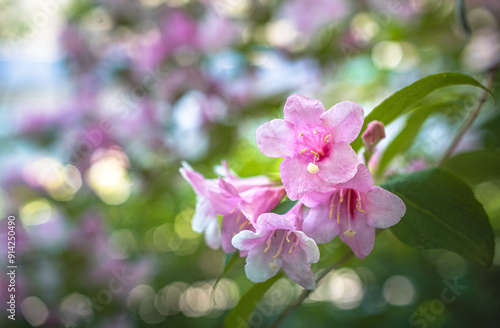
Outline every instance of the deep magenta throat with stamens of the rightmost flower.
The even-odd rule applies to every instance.
[[[335,191],[332,195],[332,200],[330,202],[330,219],[333,216],[333,209],[337,207],[337,224],[340,224],[340,207],[344,206],[345,212],[347,214],[347,230],[344,231],[344,235],[347,237],[352,237],[356,234],[356,231],[351,229],[351,220],[354,218],[355,211],[366,213],[362,208],[361,204],[361,194],[354,189],[339,189]]]

